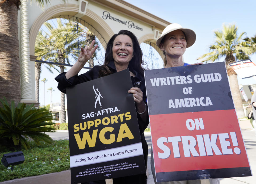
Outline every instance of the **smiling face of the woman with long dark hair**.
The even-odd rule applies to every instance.
[[[113,58],[115,65],[127,65],[133,58],[133,41],[127,35],[118,35],[113,41]]]

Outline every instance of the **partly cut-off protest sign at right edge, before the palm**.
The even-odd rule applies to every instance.
[[[256,76],[256,65],[250,59],[237,61],[229,65],[242,79]]]

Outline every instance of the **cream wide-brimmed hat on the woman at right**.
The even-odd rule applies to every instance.
[[[169,26],[167,26],[163,30],[163,32],[161,34],[161,37],[157,39],[157,46],[159,47],[163,37],[166,34],[168,34],[169,32],[175,31],[175,30],[181,30],[185,33],[186,41],[187,41],[187,47],[186,48],[190,47],[191,45],[193,45],[195,43],[195,39],[196,39],[197,36],[195,35],[194,31],[192,31],[191,29],[188,29],[188,28],[184,28],[179,24],[170,24]]]

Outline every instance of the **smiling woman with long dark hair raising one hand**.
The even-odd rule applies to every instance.
[[[66,93],[66,87],[107,76],[129,68],[132,83],[140,83],[140,86],[132,87],[128,93],[133,93],[137,110],[139,131],[141,133],[143,155],[147,167],[147,143],[143,132],[149,124],[149,118],[147,113],[146,89],[143,73],[145,69],[142,67],[144,62],[142,60],[142,51],[139,47],[139,42],[132,32],[127,30],[119,31],[118,34],[113,35],[107,43],[104,64],[101,66],[94,66],[88,72],[78,76],[78,72],[83,68],[98,47],[98,45],[95,45],[93,48],[94,43],[95,40],[93,40],[89,47],[86,46],[84,49],[81,48],[81,53],[79,54],[77,62],[70,68],[70,70],[59,74],[55,78],[59,83],[58,89],[61,92]],[[114,184],[143,184],[146,183],[146,181],[146,173],[113,179]],[[105,183],[105,180],[87,183]]]

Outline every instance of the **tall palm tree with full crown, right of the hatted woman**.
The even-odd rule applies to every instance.
[[[227,75],[229,76],[230,90],[233,96],[235,108],[238,118],[242,118],[245,114],[243,112],[237,74],[229,64],[236,60],[249,58],[249,55],[253,53],[253,48],[248,41],[242,39],[245,32],[238,35],[237,30],[238,27],[235,24],[223,24],[223,29],[221,31],[218,30],[214,32],[216,40],[214,45],[210,45],[211,52],[202,55],[197,58],[197,60],[201,60],[202,62],[214,62],[220,57],[225,57]]]

